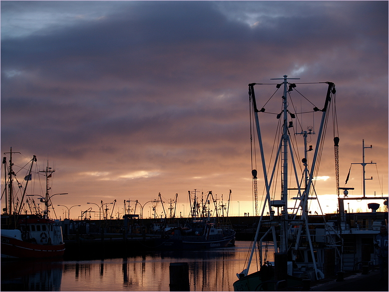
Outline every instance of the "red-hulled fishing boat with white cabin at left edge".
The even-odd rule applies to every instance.
[[[47,166],[46,177],[46,195],[40,197],[40,202],[45,204],[45,209],[41,211],[33,199],[26,199],[27,185],[32,180],[33,164],[37,162],[34,155],[27,175],[24,177],[24,185],[18,180],[17,174],[13,169],[12,154],[10,152],[9,165],[7,167],[7,157],[4,157],[3,164],[5,169],[5,180],[3,194],[6,198],[6,207],[1,215],[1,257],[2,258],[42,258],[58,257],[65,252],[65,244],[62,236],[62,229],[56,220],[49,218],[49,206],[51,206],[51,196],[49,195],[49,178],[55,170]],[[23,167],[21,170],[24,169]],[[14,181],[18,183],[18,188],[14,188]],[[52,195],[53,196],[53,195]],[[2,195],[3,197],[3,195]],[[26,202],[25,202],[26,201]],[[28,213],[29,208],[30,213]]]

